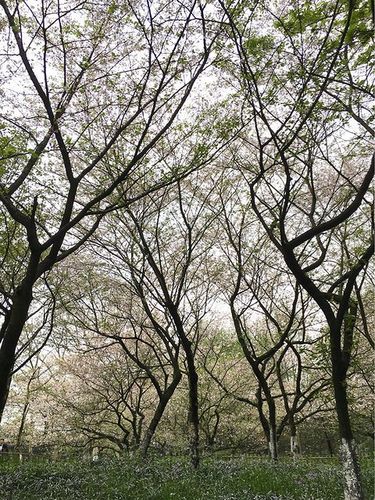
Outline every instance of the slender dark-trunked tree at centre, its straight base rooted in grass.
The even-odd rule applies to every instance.
[[[128,222],[124,222],[141,253],[141,260],[139,257],[137,260],[142,267],[128,262],[131,272],[138,276],[145,274],[148,286],[141,293],[146,291],[154,307],[163,310],[167,319],[165,327],[172,329],[171,335],[179,339],[184,353],[189,383],[190,453],[196,468],[199,464],[199,401],[195,351],[212,294],[211,284],[203,274],[206,260],[202,260],[202,255],[209,252],[204,236],[212,216],[205,213],[208,194],[202,194],[199,184],[194,186],[191,182],[190,178],[185,186],[178,183],[176,194],[166,191],[159,200],[149,198],[148,207],[128,211]],[[168,218],[169,226],[165,224]],[[142,300],[147,310],[144,295]]]

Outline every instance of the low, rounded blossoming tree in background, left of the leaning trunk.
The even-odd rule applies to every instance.
[[[65,413],[65,429],[74,446],[119,454],[138,450],[155,399],[148,377],[123,359],[118,346],[64,355],[48,392]]]

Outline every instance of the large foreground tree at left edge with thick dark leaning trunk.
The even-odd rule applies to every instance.
[[[1,222],[17,233],[6,258],[22,246],[1,287],[1,416],[40,279],[106,213],[209,156],[209,147],[189,147],[194,120],[184,127],[177,117],[217,34],[196,1],[0,5],[9,35],[1,51]],[[171,165],[171,152],[182,150],[188,159]]]

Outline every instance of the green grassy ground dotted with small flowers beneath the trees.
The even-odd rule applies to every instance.
[[[363,463],[366,498],[372,499],[373,466]],[[295,464],[281,459],[249,457],[203,459],[193,472],[185,459],[30,461],[0,464],[2,499],[134,499],[234,500],[342,498],[340,467],[331,459],[303,459]]]

